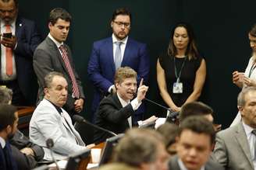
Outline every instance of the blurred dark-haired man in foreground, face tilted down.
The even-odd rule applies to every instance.
[[[217,162],[209,160],[215,141],[212,123],[201,116],[189,116],[180,123],[177,154],[169,161],[169,169],[223,170]]]

